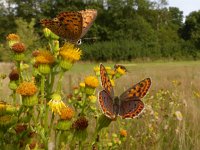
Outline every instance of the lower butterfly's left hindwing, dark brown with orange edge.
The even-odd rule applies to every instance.
[[[113,99],[110,97],[110,95],[105,91],[102,90],[99,92],[99,103],[101,106],[101,109],[103,113],[110,119],[116,118],[116,112],[113,107]]]

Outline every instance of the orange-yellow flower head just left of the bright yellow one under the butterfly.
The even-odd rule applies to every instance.
[[[50,51],[42,50],[39,51],[38,55],[35,57],[37,64],[52,64],[54,63],[54,56]]]

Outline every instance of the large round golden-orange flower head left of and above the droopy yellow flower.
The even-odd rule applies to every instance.
[[[22,96],[32,96],[37,92],[37,87],[35,86],[34,82],[24,81],[20,83],[16,92]]]

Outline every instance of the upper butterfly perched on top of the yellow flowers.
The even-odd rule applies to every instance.
[[[97,10],[61,12],[53,19],[42,19],[40,23],[56,35],[69,42],[76,43],[92,26],[97,16]]]

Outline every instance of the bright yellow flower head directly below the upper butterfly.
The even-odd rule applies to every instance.
[[[71,43],[65,43],[63,47],[60,48],[60,55],[65,60],[75,62],[80,59],[82,51]]]

